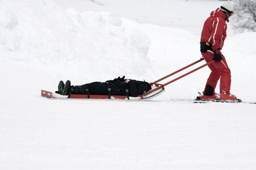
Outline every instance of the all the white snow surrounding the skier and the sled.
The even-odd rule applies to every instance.
[[[0,169],[255,169],[255,105],[171,100],[203,91],[207,67],[151,101],[40,96],[59,80],[153,82],[196,61],[220,4],[0,1]],[[228,27],[232,92],[255,101],[256,34]]]

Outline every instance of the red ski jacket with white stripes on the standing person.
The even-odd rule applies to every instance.
[[[226,22],[229,22],[229,18],[220,8],[212,11],[204,23],[200,44],[210,42],[212,50],[221,50],[226,39]]]

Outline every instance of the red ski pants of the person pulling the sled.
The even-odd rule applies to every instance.
[[[206,62],[213,60],[213,52],[208,50],[206,53],[201,54],[203,55]],[[220,62],[213,62],[212,64],[208,65],[212,72],[207,79],[206,85],[209,84],[215,90],[217,82],[220,79],[220,92],[226,91],[229,94],[231,85],[231,72],[223,54],[221,54],[221,57],[222,60]]]

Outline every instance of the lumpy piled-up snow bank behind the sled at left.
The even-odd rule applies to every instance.
[[[147,72],[150,39],[113,14],[64,10],[49,0],[6,0],[0,11],[2,59],[84,78]]]

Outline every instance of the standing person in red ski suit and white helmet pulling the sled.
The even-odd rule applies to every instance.
[[[220,100],[237,100],[235,95],[230,94],[231,74],[228,63],[221,53],[221,49],[226,39],[226,22],[233,15],[233,5],[231,2],[224,2],[220,8],[210,13],[205,21],[201,33],[200,50],[206,62],[215,60],[209,65],[212,71],[209,75],[202,100],[217,99],[215,88],[220,79]]]

